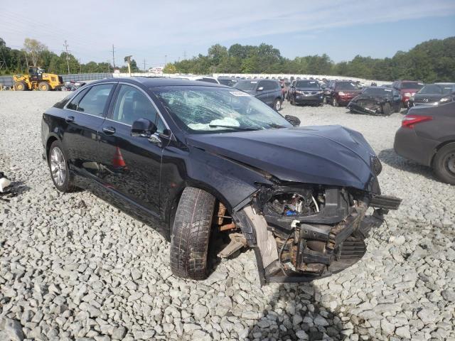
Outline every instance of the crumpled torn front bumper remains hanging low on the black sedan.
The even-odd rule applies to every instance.
[[[262,284],[305,282],[336,274],[362,259],[370,231],[380,227],[383,215],[396,210],[400,202],[396,197],[375,195],[369,202],[358,202],[338,223],[317,224],[296,219],[284,235],[271,229],[264,217],[255,214],[251,207],[246,215],[237,212],[233,217],[255,250]],[[368,207],[374,209],[370,215]]]

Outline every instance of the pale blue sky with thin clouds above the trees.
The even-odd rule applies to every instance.
[[[144,59],[151,67],[183,59],[185,51],[187,58],[205,54],[215,43],[267,43],[287,58],[327,53],[338,62],[358,54],[392,57],[455,36],[454,0],[50,0],[36,11],[26,1],[0,0],[0,8],[0,37],[9,46],[36,38],[60,53],[66,39],[87,63],[112,61],[114,44],[117,65],[133,55],[141,67]],[[37,22],[37,15],[46,20]]]

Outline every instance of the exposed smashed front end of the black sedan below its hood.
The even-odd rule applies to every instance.
[[[255,250],[262,284],[313,281],[360,260],[370,230],[400,202],[348,188],[279,184],[260,188],[232,220]]]

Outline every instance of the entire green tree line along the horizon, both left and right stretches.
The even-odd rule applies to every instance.
[[[129,56],[131,57],[131,56]],[[68,61],[67,61],[68,58]],[[0,60],[6,67],[0,73],[26,72],[27,65],[44,67],[48,72],[60,75],[80,72],[112,72],[110,63],[90,61],[81,64],[71,53],[53,53],[37,40],[26,38],[23,49],[9,48],[0,38]],[[131,59],[132,72],[141,72]],[[126,65],[121,72],[128,72]],[[392,81],[397,79],[422,80],[423,82],[455,81],[455,37],[433,39],[416,45],[411,50],[398,51],[392,58],[371,58],[356,55],[353,60],[334,63],[326,55],[307,55],[294,59],[284,58],[272,45],[234,44],[229,48],[216,44],[208,49],[207,55],[168,63],[165,73],[284,73],[340,75],[370,80]]]

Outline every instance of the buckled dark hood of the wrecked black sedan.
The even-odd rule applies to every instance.
[[[187,136],[189,146],[279,180],[370,190],[373,149],[343,126],[306,126]]]

